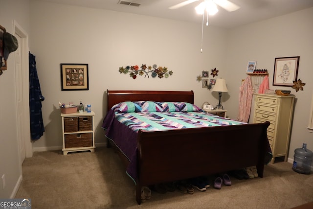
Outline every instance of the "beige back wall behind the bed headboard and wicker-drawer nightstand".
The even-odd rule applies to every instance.
[[[196,81],[202,70],[225,66],[226,30],[205,30],[203,53],[201,24],[108,10],[31,1],[31,51],[36,55],[41,81],[45,134],[36,150],[60,149],[62,124],[58,101],[88,102],[95,112],[96,143],[105,142],[101,128],[110,90],[193,90],[196,104],[217,103]],[[56,15],[57,14],[57,15]],[[88,63],[89,91],[61,91],[60,63]],[[169,78],[131,78],[120,74],[127,65],[168,67]]]

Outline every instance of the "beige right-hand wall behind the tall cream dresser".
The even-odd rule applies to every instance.
[[[293,162],[294,149],[307,147],[313,150],[313,134],[307,127],[313,93],[313,7],[266,21],[234,28],[227,33],[227,69],[234,69],[225,77],[227,84],[235,86],[246,77],[248,60],[256,60],[257,69],[268,69],[270,89],[290,90],[296,96],[292,123],[289,162]],[[275,57],[300,56],[298,79],[306,83],[304,91],[291,87],[272,86]],[[225,102],[231,117],[238,109],[238,89],[230,89],[231,97]],[[253,115],[253,114],[252,114]],[[251,120],[250,118],[250,121]]]

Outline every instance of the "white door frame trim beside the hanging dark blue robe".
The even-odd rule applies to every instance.
[[[21,47],[22,56],[22,95],[23,95],[23,120],[20,124],[23,125],[22,138],[25,142],[25,157],[30,158],[33,156],[33,145],[30,138],[30,121],[29,121],[29,46],[28,34],[23,28],[14,20],[13,21],[13,34],[18,34],[22,39],[19,47]],[[22,163],[22,162],[21,162]]]

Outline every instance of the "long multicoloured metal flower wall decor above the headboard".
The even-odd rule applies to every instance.
[[[146,66],[146,64],[142,64],[141,67],[139,68],[138,65],[134,65],[134,66],[126,66],[126,67],[120,67],[118,70],[120,73],[124,73],[127,74],[129,73],[129,75],[133,78],[136,79],[137,75],[145,75],[149,77],[149,73],[151,73],[151,76],[153,78],[158,77],[158,78],[168,78],[170,75],[173,75],[173,71],[170,70],[168,71],[166,67],[157,67],[156,64],[154,64],[153,66]]]

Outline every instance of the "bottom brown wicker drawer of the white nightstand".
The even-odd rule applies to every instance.
[[[64,136],[65,148],[73,147],[91,147],[92,133],[84,134],[66,134]]]

